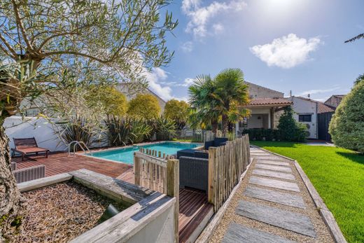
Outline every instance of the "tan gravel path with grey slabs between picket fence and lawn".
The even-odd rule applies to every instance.
[[[246,241],[246,239],[243,239],[243,237],[239,237],[239,232],[238,232],[239,229],[241,230],[241,232],[250,232],[250,233],[251,233],[251,229],[253,229],[253,233],[254,232],[259,233],[259,231],[257,231],[257,230],[260,230],[260,234],[256,235],[257,239],[259,239],[258,241],[260,241],[262,236],[265,236],[266,233],[268,233],[267,242],[272,242],[273,238],[277,239],[277,241],[274,241],[274,242],[286,242],[286,240],[288,242],[289,241],[293,241],[293,242],[333,242],[330,232],[329,232],[328,228],[326,227],[325,223],[323,222],[323,219],[321,218],[320,214],[318,213],[316,207],[314,206],[314,202],[311,199],[306,186],[304,186],[304,182],[300,178],[300,174],[298,174],[297,170],[295,169],[295,165],[293,164],[293,162],[290,160],[286,160],[285,158],[281,158],[279,156],[272,155],[272,154],[262,151],[260,149],[256,149],[256,148],[251,149],[251,156],[253,158],[256,158],[256,160],[254,160],[251,167],[249,167],[248,172],[246,173],[246,176],[244,177],[241,185],[239,186],[237,193],[232,198],[232,201],[230,202],[228,209],[225,211],[225,214],[223,216],[221,223],[218,225],[214,234],[212,235],[210,242],[235,242],[235,243],[243,242],[243,241],[244,242],[254,242],[254,241],[252,241],[252,239]],[[286,168],[289,167],[292,170],[292,172],[289,173],[289,172],[279,171],[279,173],[292,174],[295,177],[295,179],[281,179],[281,178],[277,179],[274,177],[263,176],[263,175],[256,175],[256,174],[252,175],[253,169],[256,169],[255,165],[257,163],[262,162],[262,160],[267,160],[267,159],[271,160],[271,161],[276,161],[276,162],[288,162],[289,165],[286,166]],[[262,164],[260,163],[260,165],[262,165]],[[280,165],[277,165],[277,166],[280,166]],[[285,167],[285,166],[282,165],[281,167]],[[267,172],[268,171],[274,172],[274,170],[270,170],[270,169],[266,169],[266,170],[267,170]],[[267,174],[269,174],[269,173],[267,173]],[[274,188],[274,184],[271,186],[260,186],[257,184],[252,184],[252,183],[249,183],[251,176],[262,178],[262,179],[279,180],[280,181],[279,183],[282,183],[282,181],[296,183],[298,188],[300,189],[300,192]],[[262,188],[265,190],[273,190],[274,192],[279,192],[279,193],[272,193],[273,195],[277,195],[277,194],[282,195],[284,193],[284,195],[288,195],[288,194],[295,195],[294,198],[302,197],[305,208],[291,207],[286,204],[270,202],[267,200],[261,200],[261,199],[257,199],[254,197],[249,197],[247,195],[244,195],[244,192],[246,191],[247,186],[249,186],[249,187],[253,186],[255,188]],[[262,191],[262,190],[260,190],[260,191]],[[300,216],[302,216],[302,218],[307,219],[308,222],[306,222],[306,223],[308,223],[308,225],[314,229],[314,235],[316,237],[311,237],[311,236],[300,234],[298,232],[293,232],[291,230],[287,230],[284,228],[284,226],[277,227],[277,226],[272,225],[272,224],[279,225],[279,221],[283,221],[283,219],[281,219],[281,218],[283,218],[283,215],[281,217],[277,216],[276,221],[271,220],[271,222],[270,222],[271,224],[264,223],[263,221],[265,221],[265,220],[261,219],[261,218],[265,219],[265,217],[268,217],[265,214],[260,214],[260,215],[257,214],[258,218],[260,218],[260,220],[253,219],[254,215],[251,216],[250,214],[246,214],[248,216],[241,216],[241,215],[239,215],[239,214],[241,214],[240,209],[244,209],[244,202],[246,205],[246,209],[248,209],[248,205],[251,205],[251,203],[254,203],[259,206],[263,206],[263,208],[269,209],[269,207],[271,207],[270,209],[272,209],[272,211],[279,211],[279,210],[275,210],[275,209],[281,209],[288,215],[290,215],[291,213],[295,213],[294,215],[297,216],[299,214]],[[246,203],[246,202],[248,202],[248,203]],[[240,204],[240,206],[239,206],[239,204]],[[259,208],[261,208],[261,207],[259,207]],[[253,207],[253,210],[254,210],[254,207]],[[237,214],[237,213],[239,213],[239,214]],[[270,213],[270,211],[269,211],[269,213]],[[288,218],[289,218],[289,216],[288,216]],[[295,218],[293,218],[293,220],[295,220]],[[283,223],[283,225],[284,225],[284,223]],[[289,226],[291,226],[291,225],[289,225]],[[230,230],[228,230],[229,228],[230,228]],[[298,231],[300,231],[300,228],[298,228]],[[269,234],[271,234],[271,238],[269,238]],[[256,241],[256,242],[258,242],[258,241]],[[265,242],[265,241],[261,241],[261,242]]]

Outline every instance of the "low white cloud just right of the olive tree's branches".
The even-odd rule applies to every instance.
[[[168,77],[165,70],[160,67],[156,67],[153,68],[151,72],[147,72],[145,76],[149,83],[149,88],[151,88],[155,94],[165,100],[174,98],[172,96],[172,89],[169,86],[162,87],[162,85],[160,85],[160,81],[165,81]]]

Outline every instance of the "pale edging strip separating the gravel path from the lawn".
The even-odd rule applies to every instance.
[[[328,226],[328,230],[330,231],[332,238],[337,243],[347,243],[344,235],[342,235],[342,231],[340,230],[339,225],[337,225],[335,217],[333,216],[331,211],[328,209],[325,202],[323,202],[323,199],[318,194],[316,188],[314,188],[314,185],[311,183],[308,176],[304,173],[302,167],[300,166],[300,164],[298,164],[297,160],[293,160],[292,158],[288,158],[284,155],[280,155],[279,153],[274,153],[272,151],[268,151],[267,149],[260,148],[259,146],[251,145],[251,147],[258,148],[258,149],[261,149],[262,151],[266,151],[267,153],[272,153],[279,157],[293,161],[298,174],[300,174],[301,179],[304,182],[304,186],[306,186],[307,190],[309,191],[309,195],[311,196],[312,200],[314,200],[314,204],[317,207],[318,212],[320,213],[321,217],[323,218],[323,221],[325,222],[325,224]]]

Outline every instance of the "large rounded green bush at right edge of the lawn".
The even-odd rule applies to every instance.
[[[364,153],[364,82],[342,99],[329,125],[336,146]]]

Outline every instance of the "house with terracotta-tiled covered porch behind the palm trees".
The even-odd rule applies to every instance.
[[[236,131],[251,128],[276,128],[283,108],[292,102],[284,99],[283,92],[246,82],[249,86],[251,102],[246,108],[251,110],[251,116],[236,124]]]

